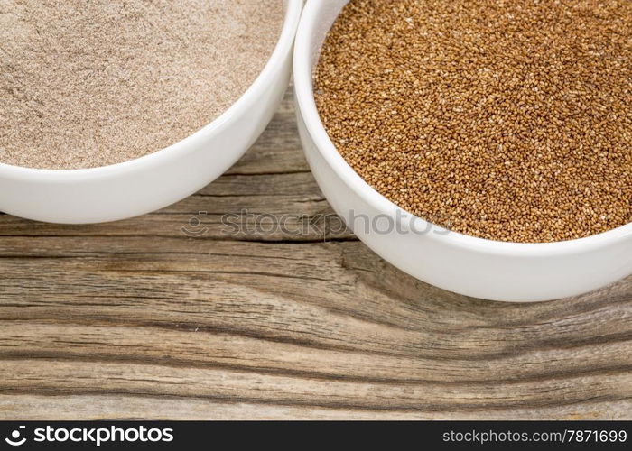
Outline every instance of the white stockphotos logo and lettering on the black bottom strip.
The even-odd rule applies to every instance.
[[[173,441],[172,428],[135,427],[98,427],[98,428],[55,428],[50,425],[43,428],[27,430],[20,425],[5,437],[5,443],[10,446],[23,446],[27,443],[35,444],[84,444],[102,446],[104,444],[125,443],[170,443]]]

